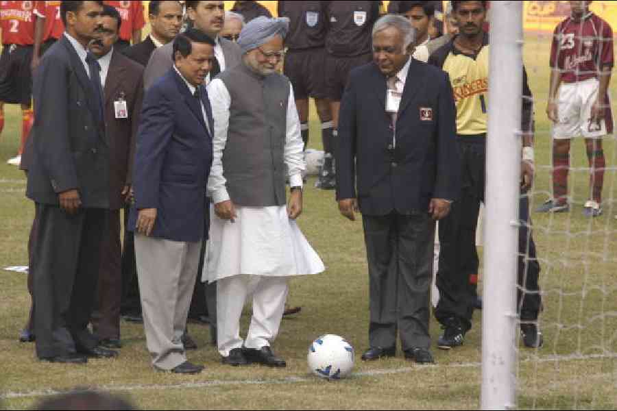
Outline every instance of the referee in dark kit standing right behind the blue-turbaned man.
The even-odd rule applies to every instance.
[[[293,86],[295,105],[300,117],[304,149],[309,142],[309,97],[315,99],[322,122],[322,142],[326,154],[332,155],[332,114],[326,88],[326,21],[325,1],[279,1],[278,16],[289,18],[289,34],[285,38],[285,75]],[[320,174],[317,187],[334,188],[335,180]]]

